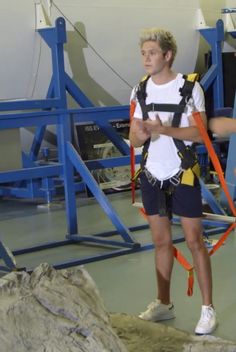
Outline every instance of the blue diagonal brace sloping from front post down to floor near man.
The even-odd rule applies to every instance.
[[[129,234],[128,228],[120,221],[119,216],[71,143],[67,143],[67,155],[123,239],[126,242],[134,243],[135,241]]]

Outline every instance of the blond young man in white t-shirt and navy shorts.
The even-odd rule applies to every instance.
[[[133,89],[131,99],[136,99],[136,109],[130,127],[129,139],[134,147],[148,143],[147,158],[140,175],[143,206],[151,228],[155,245],[157,298],[147,310],[140,314],[144,320],[161,321],[175,317],[170,297],[173,268],[173,245],[171,237],[170,211],[180,216],[186,243],[193,257],[194,268],[202,295],[200,320],[196,334],[214,331],[216,313],[212,304],[212,274],[208,252],[202,240],[202,201],[197,177],[193,185],[182,184],[182,160],[175,140],[186,146],[201,142],[192,112],[201,112],[206,123],[204,95],[196,82],[179,127],[172,127],[173,112],[155,111],[154,104],[179,104],[180,89],[185,79],[172,70],[177,46],[168,31],[151,28],[140,37],[142,63],[148,75],[145,104],[153,111],[146,113],[140,105],[138,86]],[[154,103],[154,104],[152,104]],[[147,142],[148,141],[148,142]],[[163,193],[164,192],[164,193]],[[163,200],[164,194],[164,200]],[[164,209],[164,210],[163,210]]]

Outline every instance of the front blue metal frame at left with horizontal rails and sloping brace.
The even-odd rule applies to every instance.
[[[87,114],[85,113],[87,111]],[[99,113],[98,113],[99,111]],[[113,209],[112,205],[109,203],[105,194],[100,190],[98,184],[93,178],[92,174],[89,172],[85,162],[81,159],[79,154],[74,149],[71,143],[71,121],[73,114],[75,115],[75,120],[82,118],[80,115],[84,116],[84,121],[89,118],[89,121],[96,121],[98,115],[100,120],[103,118],[106,120],[109,115],[109,120],[117,120],[117,118],[124,118],[124,113],[128,114],[128,107],[113,107],[102,108],[84,108],[78,110],[57,110],[57,111],[42,111],[42,112],[31,112],[24,114],[10,114],[10,115],[0,115],[0,129],[6,128],[16,128],[25,126],[45,126],[46,124],[56,124],[58,132],[58,149],[60,153],[60,162],[49,165],[38,165],[33,168],[13,170],[7,172],[0,172],[0,183],[5,182],[15,182],[22,180],[35,180],[38,178],[60,176],[64,180],[65,188],[65,201],[66,201],[66,218],[67,218],[67,241],[61,241],[58,244],[55,242],[45,243],[39,246],[34,246],[31,248],[25,248],[21,250],[15,250],[13,253],[15,255],[26,253],[29,251],[40,250],[42,248],[51,248],[52,246],[60,246],[71,243],[97,243],[99,245],[107,245],[108,247],[113,246],[117,249],[112,251],[107,251],[100,254],[100,259],[122,254],[122,251],[130,253],[132,251],[137,251],[140,249],[141,245],[134,240],[130,234],[129,228],[127,228],[122,221],[119,219],[117,213]],[[102,115],[103,118],[102,118]],[[120,160],[119,160],[120,159]],[[123,164],[124,160],[121,158],[116,158],[117,165]],[[100,161],[100,168],[103,161]],[[129,157],[126,159],[126,163],[130,163]],[[96,163],[99,163],[96,160]],[[91,166],[91,164],[90,164]],[[94,194],[95,198],[103,208],[106,215],[109,217],[113,223],[116,233],[120,235],[117,240],[109,240],[102,238],[104,234],[97,234],[97,236],[80,236],[78,234],[78,223],[77,223],[77,209],[76,209],[76,198],[75,198],[75,184],[74,184],[74,167],[80,173],[83,178],[84,183],[88,186],[91,192]],[[12,190],[14,191],[14,189]],[[121,248],[121,249],[120,249]],[[92,260],[92,258],[91,258]],[[78,260],[76,259],[76,263]],[[70,262],[70,265],[74,261]],[[68,264],[69,265],[69,264]]]

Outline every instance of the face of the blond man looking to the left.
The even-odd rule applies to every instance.
[[[142,63],[148,75],[153,76],[169,66],[170,52],[164,53],[158,42],[147,41],[141,47]]]

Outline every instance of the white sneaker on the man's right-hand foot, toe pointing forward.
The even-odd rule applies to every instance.
[[[201,317],[197,323],[195,334],[211,334],[217,326],[216,312],[212,306],[202,306]]]

